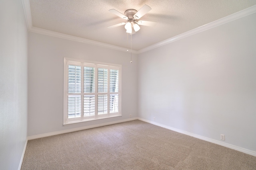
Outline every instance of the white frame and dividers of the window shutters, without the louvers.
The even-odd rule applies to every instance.
[[[81,66],[81,93],[70,94],[68,93],[68,65],[78,65]],[[95,68],[95,92],[94,93],[85,93],[84,92],[84,66],[91,66]],[[98,92],[98,68],[107,68],[108,69],[108,91],[107,92]],[[64,57],[64,81],[63,81],[63,125],[70,125],[74,123],[81,123],[86,121],[94,121],[98,119],[107,119],[110,117],[119,117],[122,116],[121,109],[121,82],[122,82],[122,66],[120,64],[110,64],[86,60],[78,60]],[[110,92],[110,69],[118,70],[118,92]],[[108,95],[108,111],[105,114],[98,115],[98,95],[106,94]],[[118,112],[110,113],[110,95],[118,95]],[[80,95],[81,96],[81,114],[80,117],[68,118],[68,96]],[[94,116],[84,116],[84,95],[95,95],[95,115]]]

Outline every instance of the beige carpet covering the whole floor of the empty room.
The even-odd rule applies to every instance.
[[[256,157],[135,120],[30,140],[21,170],[256,170]]]

